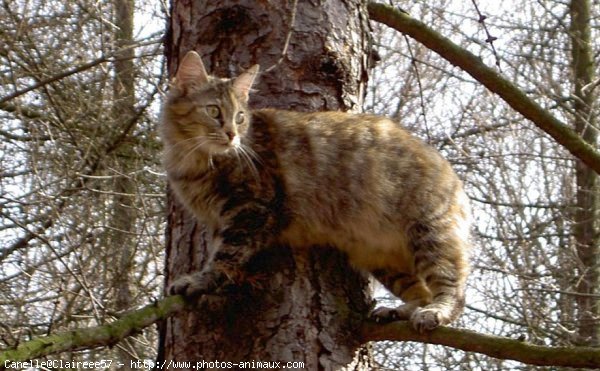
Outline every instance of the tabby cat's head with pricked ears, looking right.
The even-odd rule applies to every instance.
[[[250,124],[248,94],[257,72],[254,65],[233,79],[213,77],[200,56],[188,52],[163,107],[165,142],[209,156],[239,148]]]

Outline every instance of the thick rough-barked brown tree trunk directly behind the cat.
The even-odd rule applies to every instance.
[[[237,75],[281,57],[259,76],[251,106],[359,109],[366,82],[368,22],[358,0],[172,1],[166,40],[169,73],[189,50],[217,76]],[[167,285],[206,262],[204,229],[169,197]],[[358,329],[370,305],[365,276],[332,249],[276,246],[253,260],[260,289],[240,287],[167,321],[160,357],[176,361],[304,362],[309,370],[370,369]],[[208,302],[208,303],[207,303]],[[283,365],[283,364],[282,364]]]

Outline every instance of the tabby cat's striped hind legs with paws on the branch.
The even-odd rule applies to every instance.
[[[415,224],[409,231],[412,273],[393,269],[371,272],[404,301],[397,308],[377,308],[376,321],[409,320],[419,332],[456,319],[464,307],[469,242],[460,228],[448,223]]]

